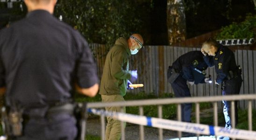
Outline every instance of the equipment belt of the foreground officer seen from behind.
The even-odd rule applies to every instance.
[[[65,103],[51,107],[34,108],[29,109],[27,113],[24,113],[23,109],[8,109],[4,106],[1,108],[3,136],[10,139],[20,137],[23,135],[23,126],[26,125],[29,119],[47,119],[58,114],[74,115],[77,119],[78,136],[85,138],[85,125],[81,123],[85,124],[87,119],[86,103]]]

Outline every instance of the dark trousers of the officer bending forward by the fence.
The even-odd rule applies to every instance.
[[[187,80],[181,75],[171,84],[174,95],[177,98],[191,97]],[[181,120],[184,122],[191,122],[192,103],[181,104]]]

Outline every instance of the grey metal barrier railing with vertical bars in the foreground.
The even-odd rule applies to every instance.
[[[104,108],[109,106],[139,106],[139,115],[143,115],[143,106],[157,105],[158,118],[162,118],[162,105],[177,104],[177,118],[181,121],[181,104],[183,103],[195,103],[195,116],[196,123],[200,124],[200,109],[199,103],[212,102],[213,103],[213,123],[214,126],[218,126],[218,104],[217,102],[222,100],[231,101],[231,118],[235,118],[235,101],[248,100],[248,130],[252,131],[252,101],[256,99],[255,94],[250,95],[228,95],[228,96],[214,96],[214,97],[192,97],[192,98],[164,98],[164,99],[145,99],[145,100],[131,100],[112,103],[88,103],[88,108]],[[101,115],[101,140],[105,138],[105,116]],[[232,124],[235,124],[235,119],[231,119]],[[121,123],[123,124],[123,123]],[[235,125],[232,127],[235,128]],[[159,128],[159,140],[163,140],[163,129]],[[199,136],[199,134],[197,134]],[[178,132],[178,137],[181,138],[181,132]],[[217,137],[216,137],[217,139]],[[125,140],[125,127],[121,126],[121,140]],[[144,126],[140,125],[140,140],[144,140]],[[234,139],[233,139],[234,140]]]

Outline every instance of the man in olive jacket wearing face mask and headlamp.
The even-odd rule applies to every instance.
[[[129,70],[128,58],[135,55],[143,47],[143,39],[133,34],[128,39],[120,37],[107,53],[103,74],[100,82],[102,102],[124,101],[129,84],[137,79],[137,70]],[[109,112],[121,112],[121,107],[106,107]],[[125,112],[125,107],[124,107]],[[105,140],[120,140],[121,122],[107,117]]]

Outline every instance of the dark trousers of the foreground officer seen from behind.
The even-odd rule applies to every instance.
[[[76,119],[70,114],[57,114],[50,118],[31,118],[24,136],[15,140],[74,140],[77,136]]]

